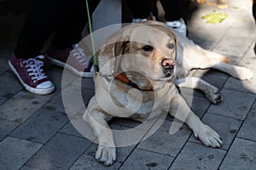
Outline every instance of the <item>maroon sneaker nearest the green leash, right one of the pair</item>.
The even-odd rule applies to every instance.
[[[79,77],[93,77],[93,63],[87,59],[84,50],[77,45],[74,48],[63,50],[49,47],[46,51],[46,57],[55,65],[66,66],[69,71]]]

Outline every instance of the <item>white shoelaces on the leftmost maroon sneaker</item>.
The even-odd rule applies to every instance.
[[[44,59],[44,56],[39,55],[35,58],[23,61],[23,64],[26,65],[26,71],[29,73],[28,75],[32,78],[34,83],[46,78],[44,70],[42,69],[44,62],[39,59]]]

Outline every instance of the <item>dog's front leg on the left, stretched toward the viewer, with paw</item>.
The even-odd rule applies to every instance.
[[[96,151],[96,160],[105,165],[113,164],[116,160],[116,148],[113,142],[113,133],[108,127],[108,118],[98,110],[90,110],[84,113],[84,121],[90,124],[98,140],[98,149]]]

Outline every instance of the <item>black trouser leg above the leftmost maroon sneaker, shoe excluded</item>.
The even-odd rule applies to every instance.
[[[29,59],[40,54],[49,35],[55,30],[56,14],[61,5],[51,0],[33,0],[16,43],[15,55]]]

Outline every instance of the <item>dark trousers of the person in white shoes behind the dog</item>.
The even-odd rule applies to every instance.
[[[156,0],[127,0],[131,14],[135,19],[145,19],[152,12]],[[167,21],[179,20],[183,15],[183,8],[179,0],[160,0]]]

